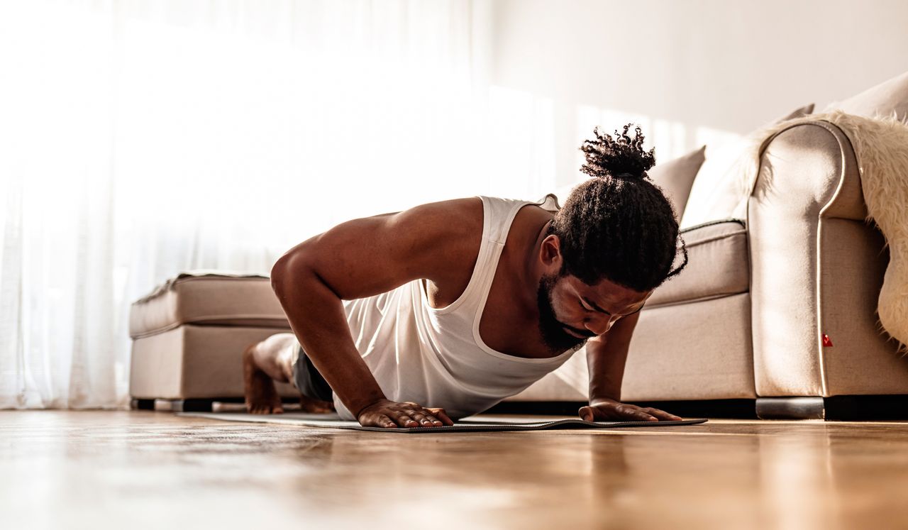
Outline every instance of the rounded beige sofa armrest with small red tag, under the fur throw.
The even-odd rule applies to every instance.
[[[866,214],[852,144],[834,124],[798,123],[764,143],[747,204],[757,396],[844,393],[830,388],[849,378],[831,353],[885,349],[874,310],[887,259]]]

